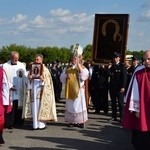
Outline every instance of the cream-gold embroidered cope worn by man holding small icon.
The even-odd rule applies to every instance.
[[[38,112],[39,121],[57,121],[56,103],[54,97],[53,81],[49,70],[43,65],[44,87],[40,96],[40,108]],[[31,91],[27,90],[25,99],[24,118],[32,118]]]

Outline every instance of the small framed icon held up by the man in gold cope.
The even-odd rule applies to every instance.
[[[31,65],[31,72],[30,74],[32,75],[32,78],[38,79],[42,75],[43,72],[43,65],[42,64],[37,64],[33,63]]]

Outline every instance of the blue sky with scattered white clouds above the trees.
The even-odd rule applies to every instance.
[[[127,49],[150,48],[149,0],[0,0],[0,47],[85,47],[98,13],[129,14]]]

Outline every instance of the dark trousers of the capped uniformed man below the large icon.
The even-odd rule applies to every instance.
[[[124,93],[119,91],[110,90],[112,117],[117,119],[117,108],[119,108],[119,117],[122,119],[123,116],[123,105],[124,105]]]

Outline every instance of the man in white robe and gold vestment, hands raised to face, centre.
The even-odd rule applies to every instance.
[[[88,70],[73,57],[72,65],[64,69],[60,76],[62,83],[66,84],[65,121],[68,126],[84,127],[88,120],[85,100],[85,80],[88,79]]]

